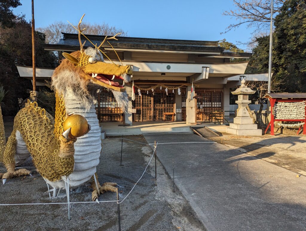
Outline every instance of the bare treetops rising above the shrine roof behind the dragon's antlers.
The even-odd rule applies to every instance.
[[[121,33],[120,36],[127,36],[127,32],[120,28],[110,26],[107,23],[88,23],[83,22],[82,25],[86,30],[84,34],[93,35],[115,35]],[[75,24],[77,27],[77,23]],[[44,33],[46,35],[46,42],[49,44],[56,44],[62,38],[62,32],[65,33],[77,33],[76,29],[73,28],[68,22],[56,21],[46,27],[39,27],[36,30]]]

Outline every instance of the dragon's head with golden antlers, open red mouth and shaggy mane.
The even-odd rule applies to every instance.
[[[66,94],[67,90],[72,90],[87,109],[92,105],[98,89],[111,90],[116,101],[127,113],[128,96],[124,84],[129,82],[133,75],[132,67],[104,62],[100,47],[106,40],[118,40],[115,38],[116,35],[110,38],[105,37],[99,47],[83,48],[85,42],[82,43],[80,37],[84,30],[80,29],[83,17],[78,25],[80,51],[71,54],[62,53],[65,59],[54,70],[52,85],[59,94]]]

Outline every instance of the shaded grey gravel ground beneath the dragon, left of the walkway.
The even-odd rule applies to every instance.
[[[118,137],[103,140],[97,173],[100,183],[118,183],[120,199],[123,199],[142,175],[153,152],[147,145],[124,140],[123,165],[120,166],[121,139],[109,138]],[[146,143],[141,135],[125,138]],[[1,204],[67,201],[64,190],[58,198],[49,199],[47,185],[31,160],[27,160],[23,167],[31,170],[34,177],[9,179],[5,185],[1,183]],[[0,171],[5,171],[2,164]],[[178,190],[172,192],[172,181],[158,160],[157,172],[156,186],[153,158],[143,178],[120,204],[121,230],[204,230],[182,194]],[[107,192],[99,200],[116,200],[116,194]],[[81,186],[70,192],[70,201],[91,201],[91,189]],[[0,211],[0,230],[118,230],[116,202],[72,204],[70,221],[66,204],[0,206]]]

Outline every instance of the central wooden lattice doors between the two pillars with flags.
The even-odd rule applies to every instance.
[[[135,100],[132,101],[133,108],[136,109],[133,113],[133,122],[138,121],[170,121],[170,116],[164,116],[164,113],[174,113],[175,94],[165,90],[141,91],[141,96],[135,90]]]

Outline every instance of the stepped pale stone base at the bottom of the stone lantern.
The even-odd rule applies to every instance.
[[[230,124],[229,128],[226,128],[226,133],[239,135],[239,136],[262,136],[263,131],[257,129],[257,124]]]

